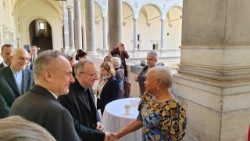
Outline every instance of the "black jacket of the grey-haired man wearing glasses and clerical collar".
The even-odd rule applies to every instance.
[[[88,95],[90,109],[82,99],[82,95]],[[75,119],[75,127],[78,135],[86,141],[103,141],[105,133],[97,131],[96,123],[100,122],[99,114],[95,107],[94,95],[92,89],[83,88],[76,80],[70,85],[69,94],[60,96],[59,102],[69,110]]]

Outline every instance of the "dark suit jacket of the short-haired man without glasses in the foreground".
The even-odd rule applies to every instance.
[[[57,141],[80,141],[69,111],[41,86],[35,85],[17,98],[10,115],[19,115],[43,126]]]

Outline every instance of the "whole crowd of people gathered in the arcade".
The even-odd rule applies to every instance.
[[[147,65],[135,78],[141,91],[138,117],[117,132],[106,131],[101,116],[109,102],[125,97],[129,55],[123,43],[99,69],[81,49],[65,55],[5,44],[1,56],[0,129],[7,128],[6,123],[13,126],[9,133],[0,130],[0,139],[18,131],[23,140],[42,136],[49,141],[114,141],[141,127],[143,140],[179,141],[185,135],[185,109],[170,91],[170,71],[157,67],[155,51],[148,52]],[[19,126],[29,133],[21,134]]]

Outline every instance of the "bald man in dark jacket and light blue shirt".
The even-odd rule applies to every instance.
[[[11,64],[0,69],[0,118],[7,117],[14,100],[26,93],[33,84],[31,70],[25,69],[29,53],[16,48],[10,57]]]

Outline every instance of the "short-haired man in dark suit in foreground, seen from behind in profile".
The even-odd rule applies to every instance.
[[[70,112],[57,101],[74,81],[69,61],[59,51],[45,51],[35,60],[33,72],[35,85],[15,100],[10,115],[43,126],[58,141],[80,141]]]

